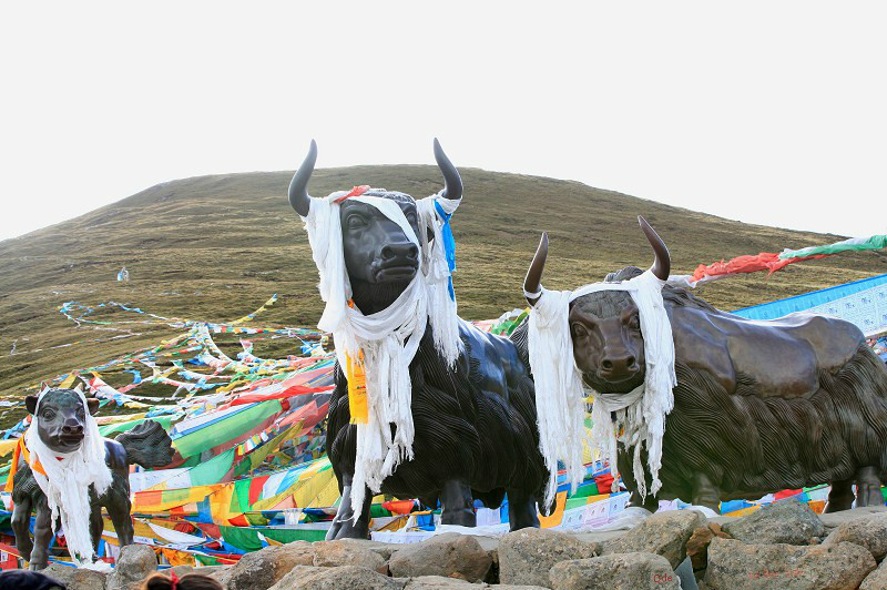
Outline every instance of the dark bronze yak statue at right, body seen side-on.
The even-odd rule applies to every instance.
[[[650,272],[662,285],[669,277],[669,251],[640,221],[655,252]],[[544,291],[533,296],[540,293],[547,254],[543,235],[524,283],[531,305],[547,296]],[[640,268],[630,266],[604,283],[640,275]],[[633,492],[633,506],[655,510],[659,499],[681,498],[716,510],[723,500],[825,482],[832,485],[828,511],[850,508],[854,484],[857,506],[884,503],[887,368],[856,326],[804,313],[751,321],[677,286],[664,284],[661,294],[674,339],[677,385],[661,439],[662,487],[655,497],[638,492],[632,447],[641,442],[632,445],[615,429],[619,471]],[[644,384],[650,343],[644,342],[632,296],[624,291],[580,293],[568,314],[583,385],[609,395],[608,400],[638,390]],[[524,324],[514,337],[526,340],[527,330]],[[615,411],[610,417],[618,419]],[[644,464],[648,450],[641,454]],[[646,489],[650,476],[648,470]]]

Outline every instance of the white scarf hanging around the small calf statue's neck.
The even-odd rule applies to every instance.
[[[83,403],[86,417],[80,448],[73,452],[57,452],[40,439],[40,403],[49,391],[43,389],[38,397],[31,426],[24,433],[24,444],[30,454],[28,464],[37,485],[47,495],[53,530],[58,520],[61,520],[68,550],[74,563],[80,568],[110,570],[104,561],[92,561],[95,553],[90,535],[89,487],[95,486],[99,496],[104,494],[111,486],[111,469],[105,462],[104,438],[99,434],[99,425],[90,414],[86,398],[79,388],[74,390]],[[45,475],[34,467],[38,461]]]

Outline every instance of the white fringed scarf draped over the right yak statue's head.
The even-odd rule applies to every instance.
[[[674,407],[672,389],[677,385],[674,374],[674,338],[669,315],[662,302],[665,282],[646,271],[623,283],[594,283],[577,291],[527,293],[539,296],[530,312],[530,366],[536,383],[536,407],[539,415],[539,448],[550,471],[546,503],[551,506],[558,489],[558,460],[567,468],[567,480],[575,489],[583,477],[582,441],[584,429],[584,395],[594,396],[592,407],[591,447],[600,449],[616,475],[616,441],[633,449],[634,479],[641,496],[646,496],[646,481],[641,461],[641,444],[648,450],[648,467],[653,478],[651,492],[662,486],[662,437],[665,416]],[[641,319],[646,373],[644,384],[628,394],[599,394],[587,387],[575,366],[573,342],[570,337],[570,302],[600,291],[628,292]],[[615,421],[611,418],[615,413]],[[615,489],[613,490],[615,491]]]

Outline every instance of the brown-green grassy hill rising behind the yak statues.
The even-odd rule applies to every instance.
[[[578,182],[472,169],[461,173],[466,196],[453,217],[456,289],[460,314],[470,319],[523,305],[520,282],[543,230],[551,236],[546,284],[553,288],[597,281],[629,264],[648,266],[652,252],[638,214],[669,244],[674,273],[722,257],[839,238],[747,225]],[[285,196],[290,176],[267,172],[172,181],[0,242],[0,395],[20,395],[41,379],[181,332],[137,323],[78,327],[58,313],[68,301],[115,301],[163,316],[226,321],[278,293],[279,303],[254,325],[313,327],[320,313],[317,271]],[[441,182],[434,166],[356,166],[316,171],[310,191],[326,195],[371,184],[426,196]],[[118,283],[124,265],[131,281]],[[723,281],[702,294],[731,309],[885,272],[883,253],[846,254],[799,263],[771,278]],[[113,311],[102,317],[139,318]],[[263,346],[261,356],[293,352],[286,340]]]

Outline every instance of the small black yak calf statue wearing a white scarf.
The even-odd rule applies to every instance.
[[[26,405],[28,411],[34,416],[31,428],[37,428],[33,433],[30,429],[26,433],[24,451],[29,458],[20,461],[14,474],[12,530],[16,533],[16,546],[21,556],[30,561],[30,568],[47,567],[53,530],[53,503],[58,507],[58,519],[65,526],[69,550],[78,562],[91,561],[90,553],[98,548],[103,528],[103,507],[108,509],[120,546],[131,545],[133,526],[130,517],[130,465],[162,467],[172,460],[172,440],[163,427],[154,420],[146,420],[120,435],[116,440],[101,438],[92,418],[92,414],[99,409],[99,400],[86,399],[75,389],[48,389],[39,398],[28,396]],[[54,459],[57,465],[43,466],[35,457],[35,449],[28,448],[29,446],[39,447],[43,462],[49,464]],[[100,465],[84,467],[90,459]],[[89,469],[92,469],[99,474],[96,479],[104,478],[104,491],[96,494],[95,479],[90,479],[89,475],[80,476],[79,469],[85,469],[84,474],[90,474]],[[64,478],[63,487],[68,489],[59,489],[59,482],[51,481],[59,476]],[[50,501],[44,488],[51,490],[54,501]],[[88,495],[89,498],[82,498],[81,495]],[[88,507],[88,513],[68,513],[65,506],[69,510],[74,506]],[[37,513],[33,543],[29,533],[31,512]],[[79,527],[81,523],[85,527]],[[78,536],[78,532],[81,535]],[[83,532],[86,535],[82,535]],[[74,541],[78,537],[81,541],[85,537],[86,545],[90,541],[92,543],[92,551],[90,547],[80,548],[78,553],[83,558],[82,561],[74,556],[78,549]]]

